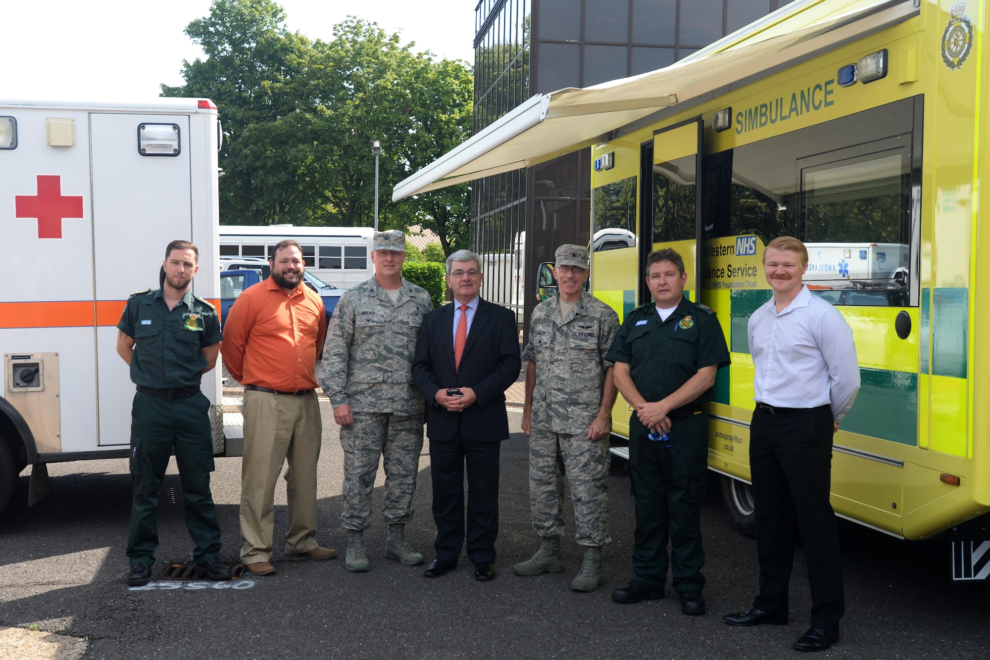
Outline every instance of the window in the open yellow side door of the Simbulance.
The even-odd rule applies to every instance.
[[[694,238],[694,154],[653,165],[653,242]]]

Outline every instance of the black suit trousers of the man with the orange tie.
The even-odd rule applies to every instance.
[[[464,545],[464,466],[467,466],[467,558],[495,562],[498,536],[498,474],[502,443],[430,440],[433,514],[437,522],[437,558],[456,564]]]

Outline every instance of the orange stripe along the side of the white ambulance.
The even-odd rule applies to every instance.
[[[220,316],[220,301],[208,300]],[[0,329],[116,327],[126,300],[0,303]]]

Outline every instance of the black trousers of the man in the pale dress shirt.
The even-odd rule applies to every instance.
[[[790,503],[808,558],[811,626],[838,630],[845,613],[832,486],[833,419],[829,406],[769,415],[758,407],[749,426],[749,468],[756,513],[759,596],[753,607],[787,618],[794,564]]]

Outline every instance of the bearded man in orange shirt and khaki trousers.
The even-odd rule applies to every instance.
[[[285,553],[330,559],[316,542],[316,465],[323,424],[314,368],[327,331],[323,301],[303,283],[295,240],[275,245],[271,277],[231,308],[221,353],[245,386],[245,455],[241,466],[241,561],[251,575],[270,575],[275,483],[286,458],[289,531]]]

